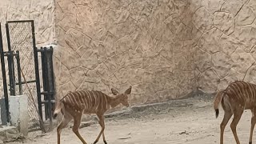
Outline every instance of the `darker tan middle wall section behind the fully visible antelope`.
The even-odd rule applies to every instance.
[[[196,87],[194,39],[201,31],[187,1],[57,0],[54,52],[58,95],[120,91],[130,102],[162,102]]]

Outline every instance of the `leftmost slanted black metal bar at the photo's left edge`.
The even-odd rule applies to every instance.
[[[3,93],[5,97],[6,104],[6,119],[7,122],[10,122],[10,112],[9,112],[9,99],[8,99],[8,90],[7,90],[7,81],[6,81],[6,64],[2,47],[2,30],[0,23],[0,53],[1,53],[1,66],[2,66],[2,84],[3,84]]]

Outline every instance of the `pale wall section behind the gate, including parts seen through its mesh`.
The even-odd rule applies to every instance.
[[[8,50],[6,39],[6,21],[19,21],[19,20],[34,20],[35,37],[37,46],[45,46],[54,43],[54,0],[1,0],[0,2],[0,22],[2,23],[3,35],[3,48]],[[22,22],[19,24],[8,25],[10,30],[10,50],[19,50],[19,58],[21,63],[22,72],[26,76],[26,81],[34,80],[34,47],[32,40],[32,26],[31,23]],[[40,59],[40,58],[39,58]],[[5,59],[7,60],[7,58]],[[39,60],[40,61],[40,60]],[[14,58],[16,63],[16,58]],[[14,64],[14,73],[16,82],[18,82],[18,66]],[[8,65],[6,62],[6,78],[9,84]],[[25,79],[21,78],[22,82]],[[42,82],[42,80],[41,80]],[[2,74],[0,77],[0,98],[3,97],[2,87]],[[17,88],[18,86],[16,86]],[[10,96],[10,87],[7,87]],[[18,94],[16,89],[16,94]],[[31,92],[31,94],[29,93]],[[37,102],[35,82],[22,86],[23,94],[28,96],[28,110],[29,110],[29,125],[30,130],[38,127],[38,114],[36,113],[37,106],[34,106],[33,99]],[[31,97],[32,95],[32,97]],[[37,105],[37,103],[35,103]],[[4,117],[4,115],[1,115]]]

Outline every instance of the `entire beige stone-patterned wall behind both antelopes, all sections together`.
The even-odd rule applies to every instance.
[[[133,86],[136,104],[256,83],[255,0],[3,0],[0,12],[34,19],[38,46],[58,43],[59,97]]]

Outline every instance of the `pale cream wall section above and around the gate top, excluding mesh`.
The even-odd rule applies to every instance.
[[[48,44],[54,43],[54,9],[54,0],[1,0],[0,22],[2,24],[1,28],[4,50],[8,50],[5,27],[6,21],[32,19],[34,20],[37,46],[46,46]],[[34,61],[34,59],[32,58],[31,61]],[[7,65],[6,70],[8,70]],[[6,74],[8,74],[8,72]],[[1,98],[3,95],[2,73],[0,75]],[[9,78],[8,75],[6,76]]]

